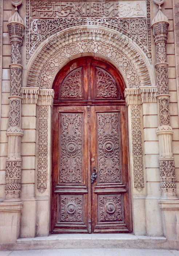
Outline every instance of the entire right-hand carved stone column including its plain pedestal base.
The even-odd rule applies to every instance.
[[[162,209],[164,235],[168,240],[178,240],[179,224],[177,223],[179,200],[176,197],[175,165],[172,152],[172,127],[170,124],[170,108],[168,94],[168,63],[166,43],[168,35],[168,18],[162,13],[160,5],[164,0],[154,0],[159,10],[152,20],[152,31],[156,45],[156,74],[159,127],[156,131],[159,136],[159,167],[160,188],[162,200],[159,206]]]

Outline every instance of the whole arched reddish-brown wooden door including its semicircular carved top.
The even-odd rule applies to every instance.
[[[56,75],[52,233],[131,232],[124,82],[95,57]]]

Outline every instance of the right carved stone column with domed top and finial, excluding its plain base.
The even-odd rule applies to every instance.
[[[171,199],[176,196],[175,165],[172,153],[172,128],[170,126],[170,109],[168,95],[168,63],[166,43],[168,35],[168,18],[162,13],[160,5],[163,1],[156,1],[159,10],[152,20],[152,31],[156,44],[156,73],[159,127],[159,166],[163,197]]]

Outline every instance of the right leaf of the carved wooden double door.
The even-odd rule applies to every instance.
[[[91,107],[92,232],[128,232],[130,223],[125,106]]]

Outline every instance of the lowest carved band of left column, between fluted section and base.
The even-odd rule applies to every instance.
[[[21,161],[6,161],[5,194],[19,195],[21,188]]]

